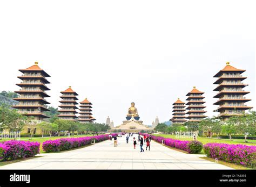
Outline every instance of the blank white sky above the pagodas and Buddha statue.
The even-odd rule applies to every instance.
[[[50,98],[72,86],[93,117],[120,125],[135,102],[151,125],[196,86],[217,115],[213,78],[229,61],[245,69],[255,103],[254,1],[0,1],[0,91],[18,90],[18,69],[51,75]]]

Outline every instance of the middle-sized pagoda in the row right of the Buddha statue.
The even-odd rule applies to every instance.
[[[188,97],[186,100],[188,100],[188,102],[186,103],[186,105],[188,106],[186,109],[188,110],[188,112],[186,114],[188,114],[188,117],[186,118],[189,119],[189,121],[199,122],[207,117],[204,115],[204,113],[206,112],[204,108],[206,106],[203,105],[205,103],[203,101],[203,94],[204,92],[199,91],[198,89],[196,89],[196,87],[193,87],[193,90],[187,93],[186,96]]]

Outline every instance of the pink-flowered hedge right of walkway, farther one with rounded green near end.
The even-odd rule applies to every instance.
[[[141,135],[150,136],[149,134],[140,133]],[[164,138],[162,136],[151,135],[152,140],[156,140],[161,143],[164,140],[166,146],[174,147],[177,149],[185,150],[188,153],[198,154],[203,148],[203,144],[200,141],[186,141],[186,140],[176,140],[171,138]]]

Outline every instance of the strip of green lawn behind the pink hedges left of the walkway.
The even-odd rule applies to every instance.
[[[52,137],[44,137],[44,138],[38,138],[38,137],[35,137],[35,138],[32,138],[32,140],[30,140],[30,138],[21,138],[21,140],[23,141],[37,141],[39,142],[41,145],[40,145],[40,153],[44,153],[43,151],[43,147],[42,147],[42,144],[44,141],[46,140],[56,140],[56,139],[60,139],[60,138],[77,138],[77,137],[83,137],[83,136],[93,136],[95,134],[83,134],[83,135],[74,135],[74,136],[52,136]],[[100,134],[98,134],[100,135]],[[2,140],[0,140],[0,142],[3,142],[3,141],[8,141],[8,140],[12,140],[11,138],[4,138]]]

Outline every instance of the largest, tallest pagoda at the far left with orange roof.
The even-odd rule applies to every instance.
[[[43,69],[38,66],[38,62],[29,68],[19,69],[23,73],[22,76],[18,76],[22,80],[18,83],[21,89],[15,91],[19,94],[17,100],[19,104],[12,106],[18,109],[19,113],[25,116],[33,116],[35,120],[43,120],[49,118],[43,112],[49,111],[45,104],[50,104],[45,100],[45,97],[50,97],[45,90],[50,90],[45,84],[50,82],[45,77],[50,77]]]

